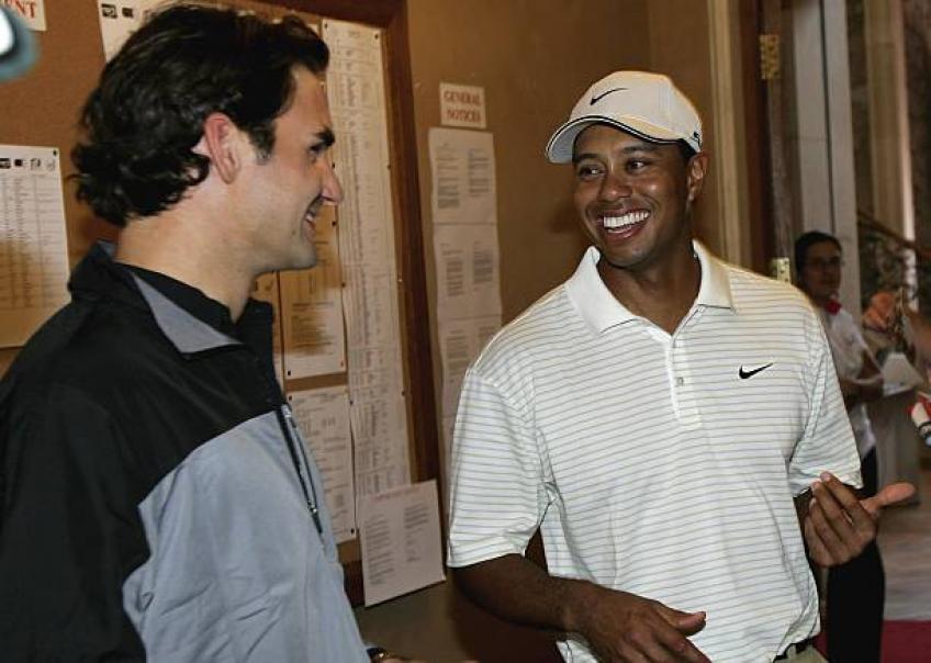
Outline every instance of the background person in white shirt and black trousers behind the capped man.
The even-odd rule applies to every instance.
[[[876,436],[866,404],[883,396],[883,377],[860,325],[838,301],[843,256],[840,241],[819,231],[795,240],[798,286],[821,318],[831,347],[863,474],[863,496],[876,494]],[[885,573],[879,548],[828,571],[828,656],[832,661],[878,662],[882,649]]]

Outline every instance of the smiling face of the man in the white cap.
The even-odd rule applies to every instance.
[[[573,165],[575,209],[604,260],[637,271],[683,251],[691,259],[688,213],[704,181],[704,154],[685,162],[675,144],[593,124],[575,139]]]

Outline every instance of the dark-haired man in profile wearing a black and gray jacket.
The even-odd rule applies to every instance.
[[[296,18],[176,5],[106,65],[72,156],[120,240],[0,386],[4,661],[368,661],[248,297],[343,198],[327,61]]]

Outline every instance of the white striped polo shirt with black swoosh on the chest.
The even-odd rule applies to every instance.
[[[821,324],[795,288],[695,243],[673,335],[575,274],[502,329],[462,385],[450,566],[523,554],[552,575],[707,613],[713,661],[772,661],[818,630],[793,495],[860,463]],[[580,637],[570,661],[593,661]]]

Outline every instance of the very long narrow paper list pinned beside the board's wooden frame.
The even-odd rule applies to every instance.
[[[410,483],[381,31],[325,20],[356,492]]]

